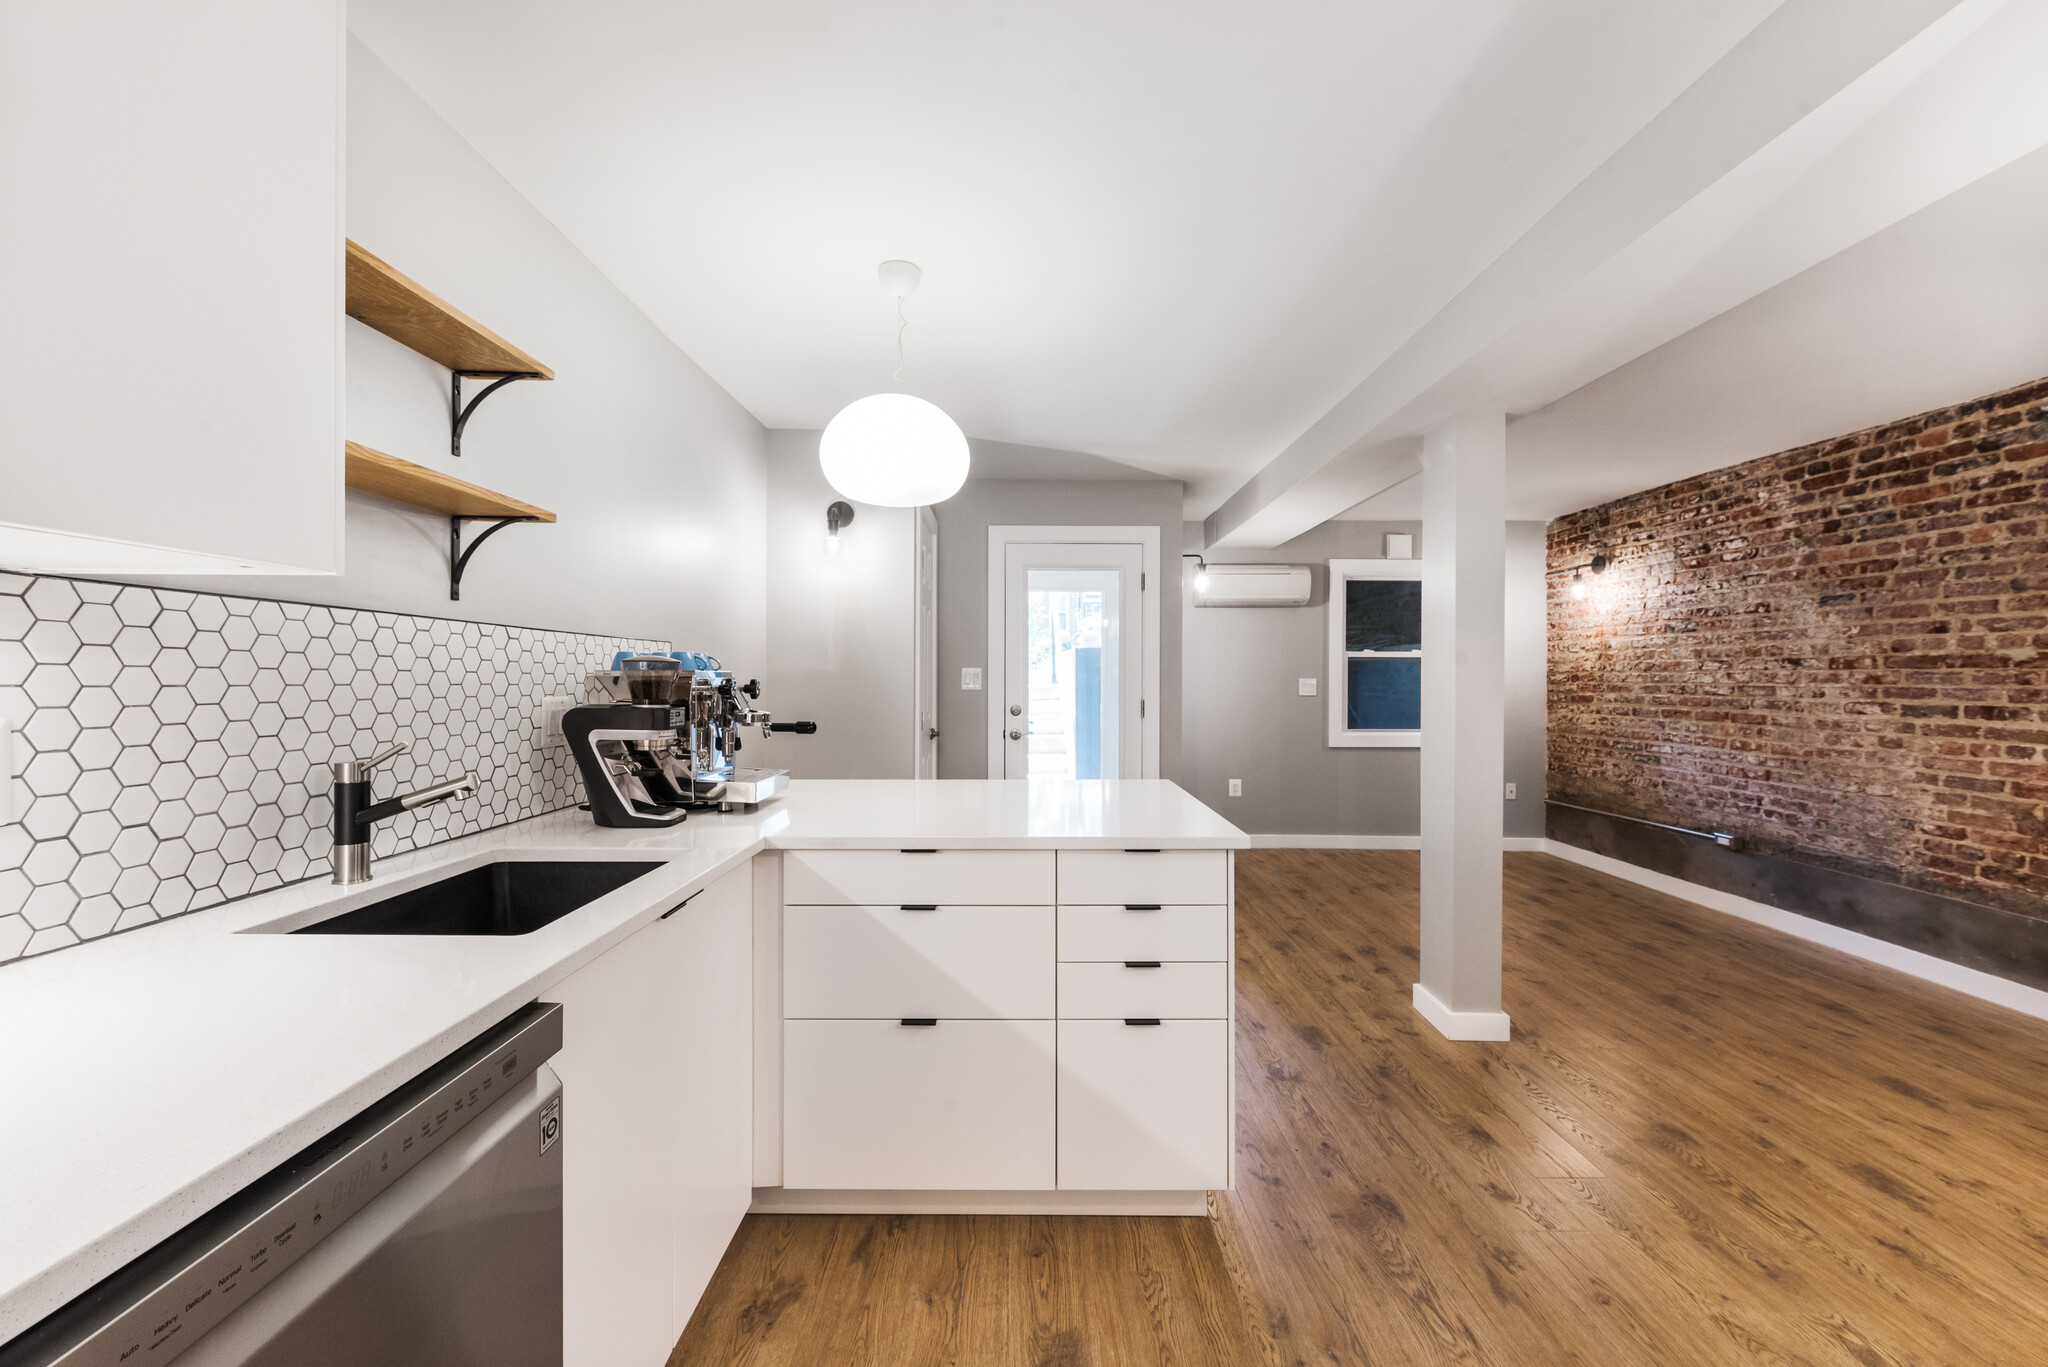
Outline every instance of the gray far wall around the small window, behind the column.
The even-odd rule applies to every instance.
[[[1257,834],[1415,836],[1421,830],[1421,750],[1329,748],[1329,560],[1374,560],[1380,535],[1421,523],[1325,523],[1270,551],[1208,553],[1212,564],[1315,568],[1309,607],[1194,607],[1194,562],[1182,576],[1184,711],[1180,783]],[[1544,785],[1544,527],[1507,525],[1507,781],[1509,836],[1542,834]],[[1296,680],[1319,680],[1298,697]],[[1243,797],[1229,797],[1243,779]]]

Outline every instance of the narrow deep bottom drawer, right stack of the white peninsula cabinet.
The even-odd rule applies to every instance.
[[[1227,1187],[1229,1068],[1229,1021],[1061,1021],[1061,1189]]]

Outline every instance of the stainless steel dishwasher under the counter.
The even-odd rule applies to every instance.
[[[561,1006],[532,1004],[0,1344],[0,1367],[559,1367]]]

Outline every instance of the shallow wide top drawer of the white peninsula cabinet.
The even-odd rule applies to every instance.
[[[1051,906],[1053,851],[791,851],[782,902]]]

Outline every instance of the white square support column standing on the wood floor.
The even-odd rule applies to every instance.
[[[1507,416],[1423,437],[1421,982],[1446,1039],[1507,1039],[1501,1010],[1501,672]]]

